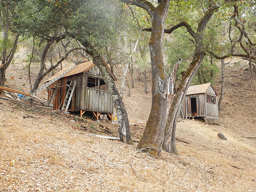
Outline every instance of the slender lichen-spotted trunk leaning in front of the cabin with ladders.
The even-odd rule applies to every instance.
[[[85,40],[79,40],[79,41],[84,46],[84,51],[87,54],[90,54],[91,57],[93,57],[93,63],[99,68],[99,71],[101,72],[101,75],[106,85],[108,86],[109,93],[112,96],[112,100],[117,110],[117,118],[118,118],[118,125],[119,125],[118,132],[119,132],[120,141],[128,144],[132,144],[127,111],[125,109],[124,102],[118,92],[116,84],[114,83],[114,80],[110,75],[110,72],[109,72],[110,69],[108,69],[105,62],[99,56],[97,50],[95,50],[89,44],[89,42],[86,42]]]

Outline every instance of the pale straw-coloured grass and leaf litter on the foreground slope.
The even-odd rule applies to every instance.
[[[31,113],[38,119],[24,119],[25,111],[8,111],[14,104],[2,102],[2,191],[255,190],[255,148],[227,131],[228,141],[218,139],[218,125],[178,123],[177,136],[191,144],[177,142],[179,156],[163,152],[153,159],[136,146],[89,136],[72,116]]]

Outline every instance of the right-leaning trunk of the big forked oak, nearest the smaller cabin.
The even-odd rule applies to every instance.
[[[182,102],[184,101],[185,96],[187,94],[189,84],[191,83],[197,70],[202,64],[203,58],[205,56],[204,47],[203,47],[204,30],[208,21],[211,19],[212,15],[216,10],[217,10],[217,7],[211,7],[207,10],[207,12],[203,15],[200,22],[198,23],[196,33],[187,24],[188,25],[187,29],[191,30],[190,34],[193,34],[192,37],[195,38],[195,45],[196,45],[195,52],[194,52],[193,60],[191,61],[187,70],[181,72],[182,79],[180,84],[178,85],[175,97],[173,97],[173,100],[170,104],[170,110],[167,117],[167,123],[165,127],[165,134],[164,134],[163,145],[162,145],[163,150],[173,154],[177,154],[177,150],[175,146],[175,132],[176,132],[177,118],[180,113]]]

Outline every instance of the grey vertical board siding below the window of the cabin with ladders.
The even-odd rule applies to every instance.
[[[113,113],[113,102],[108,91],[98,89],[85,89],[84,98],[86,107],[83,110],[101,113]]]

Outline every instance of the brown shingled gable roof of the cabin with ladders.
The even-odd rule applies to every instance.
[[[67,72],[67,74],[65,74],[63,77],[68,77],[71,75],[75,75],[75,74],[79,74],[79,73],[85,73],[87,72],[90,68],[94,67],[95,64],[93,64],[93,61],[89,61],[86,63],[81,63],[79,65],[77,65],[74,69],[72,69],[71,71]],[[108,65],[106,65],[108,68],[108,71],[110,73],[110,75],[112,76],[112,78],[114,80],[117,80],[116,77],[114,76],[114,74],[112,73],[112,71],[109,69]],[[65,71],[67,71],[68,69],[70,69],[71,67],[62,69],[61,71],[57,72],[55,75],[53,75],[52,77],[50,77],[49,79],[46,80],[46,82],[56,78],[57,76],[63,74]]]

